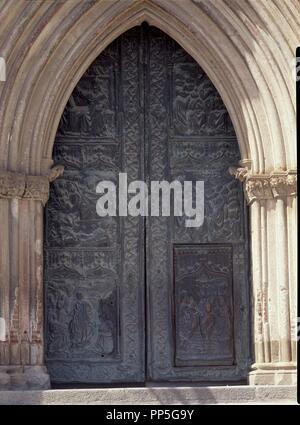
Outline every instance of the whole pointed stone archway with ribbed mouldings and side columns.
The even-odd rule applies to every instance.
[[[254,360],[249,382],[291,384],[296,362],[296,142],[291,64],[300,6],[219,0],[1,3],[0,383],[49,386],[43,366],[43,206],[56,129],[76,83],[143,21],[173,37],[220,92],[251,213]]]

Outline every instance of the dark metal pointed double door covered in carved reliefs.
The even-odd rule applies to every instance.
[[[231,382],[249,368],[247,215],[229,115],[199,65],[147,24],[96,59],[54,145],[45,211],[53,383]],[[96,185],[204,180],[205,219],[96,214]]]

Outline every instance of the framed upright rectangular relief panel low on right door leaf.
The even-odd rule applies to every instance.
[[[175,365],[232,365],[232,249],[174,246]]]

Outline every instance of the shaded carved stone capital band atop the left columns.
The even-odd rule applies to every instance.
[[[12,171],[0,171],[0,198],[31,199],[45,206],[49,198],[49,183],[64,171],[56,165],[44,176],[29,176]]]

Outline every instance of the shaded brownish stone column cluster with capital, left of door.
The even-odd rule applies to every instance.
[[[50,386],[43,364],[43,207],[62,170],[0,171],[0,389]]]

